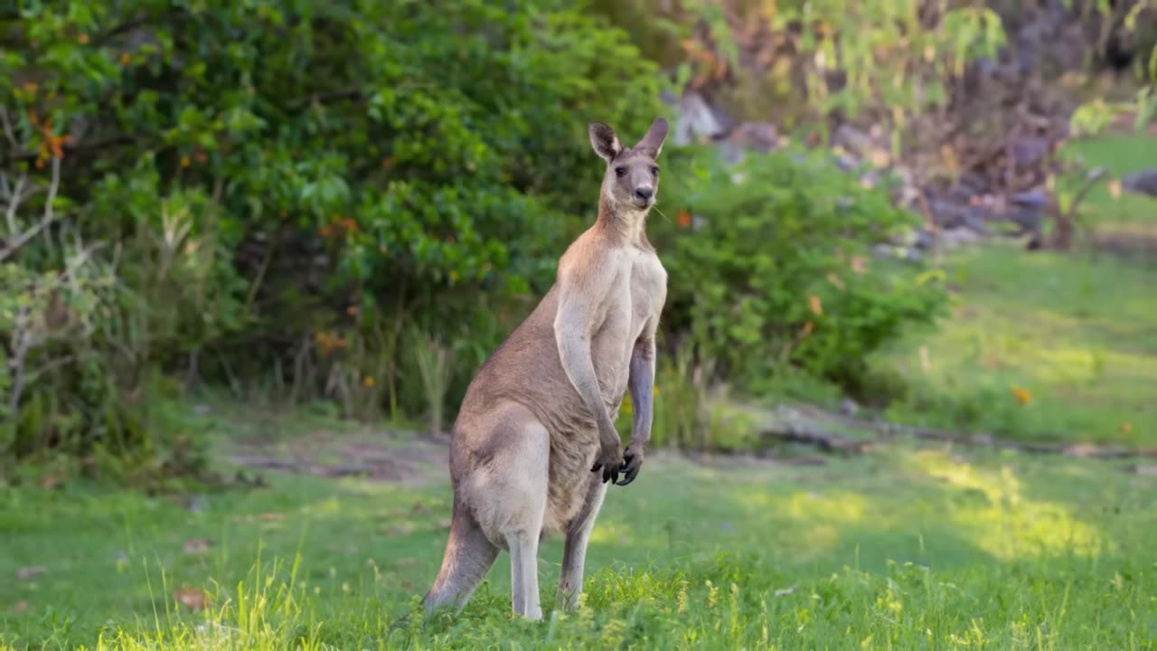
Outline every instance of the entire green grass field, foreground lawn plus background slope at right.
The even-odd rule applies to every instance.
[[[1149,146],[1083,145],[1115,171]],[[1123,200],[1099,190],[1086,210],[1157,224],[1157,202]],[[874,360],[912,387],[889,416],[1157,446],[1157,261],[997,246],[945,272],[951,319]],[[224,407],[189,416],[222,461],[238,439],[323,463],[418,449]],[[611,489],[581,612],[553,610],[552,539],[544,622],[511,616],[502,555],[460,616],[391,630],[445,541],[444,448],[421,449],[384,480],[270,473],[200,496],[0,487],[0,648],[1157,649],[1157,459],[905,441],[819,466],[656,453]]]

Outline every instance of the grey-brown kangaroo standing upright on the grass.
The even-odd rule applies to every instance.
[[[450,441],[454,512],[427,615],[466,605],[500,549],[510,554],[511,607],[541,620],[538,543],[563,533],[558,606],[577,608],[587,542],[609,483],[639,475],[650,439],[655,331],[666,271],[647,240],[668,123],[632,148],[592,122],[606,161],[598,219],[559,259],[554,285],[466,388]],[[614,429],[631,392],[631,442]],[[622,475],[621,478],[619,475]]]

